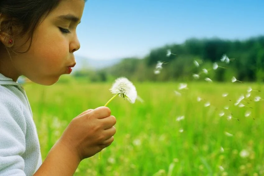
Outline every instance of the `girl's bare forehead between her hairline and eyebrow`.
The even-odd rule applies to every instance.
[[[61,0],[48,17],[74,16],[81,19],[84,5],[84,0]]]

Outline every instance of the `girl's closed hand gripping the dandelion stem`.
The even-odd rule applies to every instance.
[[[87,110],[67,126],[58,142],[76,153],[80,160],[91,157],[111,145],[116,118],[108,107]]]

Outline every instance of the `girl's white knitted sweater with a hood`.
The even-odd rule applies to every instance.
[[[0,176],[33,175],[41,163],[25,91],[21,84],[0,74]]]

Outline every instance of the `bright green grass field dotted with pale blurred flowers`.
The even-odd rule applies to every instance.
[[[131,104],[117,97],[109,104],[117,118],[115,141],[103,150],[101,160],[97,155],[83,160],[75,175],[264,174],[264,101],[246,100],[253,109],[233,105],[248,86],[264,90],[259,84],[188,83],[180,97],[174,93],[179,83],[134,84],[144,102]],[[25,85],[43,159],[72,118],[112,97],[110,87],[110,83]],[[224,92],[229,95],[222,97]],[[264,97],[263,91],[253,95]],[[197,102],[197,96],[205,100]],[[204,106],[207,101],[209,107]],[[219,116],[227,105],[240,121],[228,121],[228,110]],[[252,117],[244,116],[246,110]],[[179,116],[185,118],[176,121]]]

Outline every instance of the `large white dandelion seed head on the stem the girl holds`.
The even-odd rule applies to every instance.
[[[124,77],[117,78],[110,88],[110,91],[113,94],[118,94],[120,97],[127,99],[131,103],[135,103],[137,99],[136,87]]]

